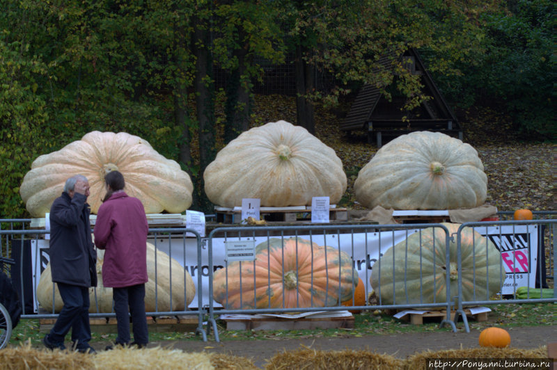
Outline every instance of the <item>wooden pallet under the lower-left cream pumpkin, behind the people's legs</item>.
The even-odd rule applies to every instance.
[[[49,332],[56,319],[39,319],[39,331]],[[91,331],[107,334],[117,332],[117,321],[113,317],[91,317],[89,319]],[[191,316],[160,316],[147,318],[148,330],[150,332],[195,332],[198,327],[196,315]],[[132,324],[130,324],[132,330]]]

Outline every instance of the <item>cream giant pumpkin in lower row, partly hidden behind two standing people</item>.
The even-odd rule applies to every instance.
[[[112,312],[112,288],[102,285],[103,257],[104,250],[97,250],[98,285],[96,289],[89,288],[89,299],[91,301],[89,312],[97,312],[97,305],[98,312]],[[185,307],[194,300],[196,293],[194,280],[191,280],[191,275],[187,270],[184,271],[178,261],[168,257],[166,253],[157,250],[156,261],[157,268],[155,270],[155,246],[147,243],[147,275],[149,281],[145,284],[146,312],[184,311]],[[155,277],[157,284],[155,284]],[[40,306],[49,312],[52,311],[52,287],[50,264],[48,264],[45,271],[40,274],[37,299]],[[54,311],[60,312],[63,307],[62,298],[58,293],[58,287],[56,286],[54,289]]]

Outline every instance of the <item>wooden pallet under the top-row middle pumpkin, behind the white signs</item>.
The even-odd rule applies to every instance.
[[[215,209],[217,223],[241,223],[242,210],[224,209],[217,207]],[[269,223],[299,223],[311,222],[311,207],[261,207],[260,219]],[[329,209],[329,220],[331,221],[347,221],[348,210],[345,208]]]

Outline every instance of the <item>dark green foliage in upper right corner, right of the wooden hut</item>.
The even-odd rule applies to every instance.
[[[453,63],[457,74],[434,71],[434,78],[458,106],[491,105],[508,113],[523,137],[555,137],[556,3],[516,0],[507,6],[480,19],[485,34],[478,35],[475,51]],[[430,62],[439,58],[425,54]]]

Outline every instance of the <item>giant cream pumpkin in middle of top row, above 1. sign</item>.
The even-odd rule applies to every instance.
[[[343,163],[306,129],[285,121],[245,131],[217,154],[203,173],[205,193],[223,207],[259,198],[262,206],[311,205],[328,196],[335,204],[346,190]]]

